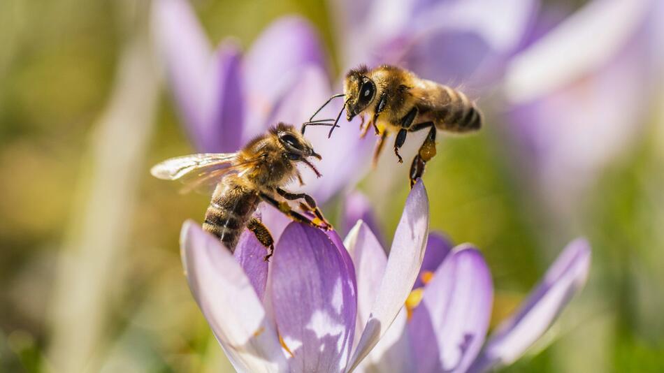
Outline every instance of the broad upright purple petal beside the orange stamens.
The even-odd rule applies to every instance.
[[[482,348],[492,302],[482,254],[468,244],[456,247],[424,288],[408,324],[417,371],[465,372]]]

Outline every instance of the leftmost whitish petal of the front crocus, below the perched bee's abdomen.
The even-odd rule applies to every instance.
[[[180,245],[189,288],[233,367],[286,370],[273,323],[231,252],[194,221],[182,226]]]

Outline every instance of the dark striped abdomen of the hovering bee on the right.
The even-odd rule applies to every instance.
[[[482,127],[482,113],[463,92],[440,86],[442,107],[433,112],[435,126],[452,132],[477,131]]]

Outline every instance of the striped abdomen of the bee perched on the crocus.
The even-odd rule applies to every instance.
[[[233,182],[219,183],[205,211],[203,230],[217,236],[232,252],[259,203],[261,199],[252,189]]]

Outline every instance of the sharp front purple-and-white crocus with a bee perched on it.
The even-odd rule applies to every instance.
[[[347,251],[334,231],[297,223],[280,235],[268,265],[265,248],[251,234],[245,232],[231,254],[187,221],[182,261],[194,298],[236,370],[345,372],[370,353],[402,309],[427,235],[428,198],[418,182],[389,258],[375,272],[362,251],[368,235],[347,238],[354,248]],[[370,273],[377,286],[367,293],[359,284]]]

